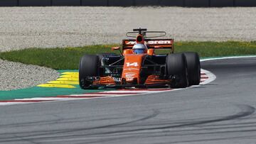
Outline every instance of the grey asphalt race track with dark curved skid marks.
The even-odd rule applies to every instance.
[[[202,68],[217,79],[160,94],[0,106],[0,143],[255,143],[256,58]]]

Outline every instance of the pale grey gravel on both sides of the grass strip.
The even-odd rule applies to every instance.
[[[255,16],[255,8],[2,7],[0,52],[121,43],[127,31],[139,27],[166,31],[166,37],[175,40],[250,41],[256,38]],[[32,87],[58,77],[50,69],[31,74],[27,72],[34,66],[0,62],[0,90]]]

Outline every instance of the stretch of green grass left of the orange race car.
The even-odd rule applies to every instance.
[[[2,60],[22,62],[24,64],[51,67],[55,70],[77,70],[82,55],[110,52],[112,46],[91,45],[80,48],[28,48],[11,52],[1,52],[0,58]]]

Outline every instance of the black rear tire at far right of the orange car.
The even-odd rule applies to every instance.
[[[184,52],[188,66],[188,85],[198,85],[201,81],[201,65],[196,52]]]

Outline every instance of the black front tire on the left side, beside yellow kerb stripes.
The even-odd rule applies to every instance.
[[[97,77],[99,75],[99,57],[97,55],[84,55],[80,59],[79,65],[79,85],[82,89],[90,89],[92,82],[87,81],[87,77]]]

